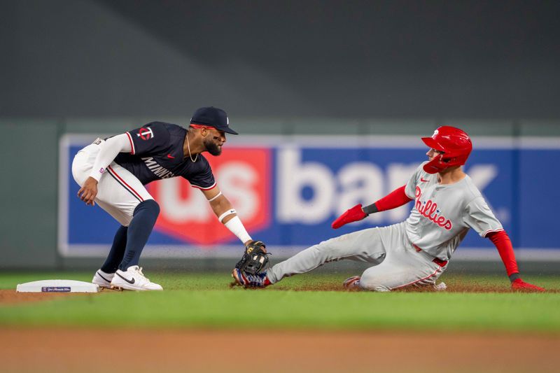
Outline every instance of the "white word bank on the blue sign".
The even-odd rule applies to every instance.
[[[321,162],[302,162],[300,148],[278,150],[276,174],[276,209],[279,223],[318,224],[339,216],[358,203],[372,204],[393,190],[405,185],[419,162],[389,163],[385,172],[374,162],[349,162],[337,173]],[[493,164],[477,164],[469,169],[473,183],[483,190],[496,178]],[[305,198],[304,189],[311,197]],[[409,204],[397,209],[374,213],[352,223],[398,223],[409,216]]]

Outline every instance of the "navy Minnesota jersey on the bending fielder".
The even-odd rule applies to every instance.
[[[216,181],[208,160],[198,155],[196,162],[183,154],[187,130],[178,125],[151,122],[126,132],[132,152],[119,153],[115,162],[132,172],[142,184],[182,176],[195,188],[214,188]]]

